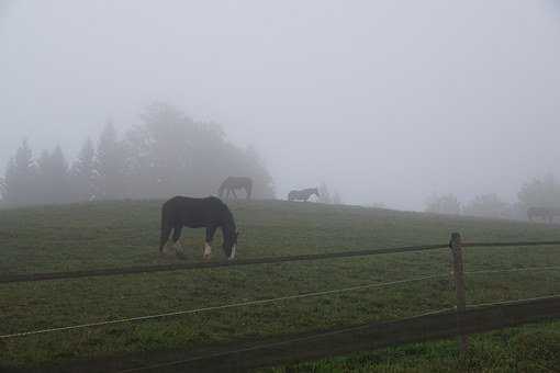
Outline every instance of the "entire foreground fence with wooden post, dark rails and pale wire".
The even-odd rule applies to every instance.
[[[455,237],[455,238],[453,238]],[[190,352],[189,359],[175,360],[173,362],[163,363],[158,366],[139,368],[139,370],[155,369],[163,366],[172,366],[180,364],[182,370],[187,364],[191,369],[226,369],[229,370],[232,364],[236,368],[244,370],[249,368],[257,368],[266,365],[275,365],[279,363],[289,363],[294,360],[302,359],[316,359],[326,355],[340,354],[345,352],[356,351],[359,349],[373,349],[379,347],[387,347],[391,344],[401,344],[411,341],[424,341],[436,338],[461,336],[463,341],[463,350],[468,347],[468,335],[485,330],[493,330],[495,328],[504,328],[508,326],[519,325],[534,320],[541,320],[545,318],[560,318],[560,295],[549,297],[523,299],[515,302],[500,302],[485,305],[478,305],[472,308],[467,307],[464,303],[464,289],[463,289],[463,274],[484,274],[484,273],[501,273],[501,272],[519,272],[519,271],[544,271],[556,270],[559,267],[541,267],[541,268],[520,268],[509,270],[486,270],[486,271],[462,271],[462,256],[461,248],[463,247],[523,247],[523,246],[560,246],[560,241],[513,241],[513,242],[461,242],[460,235],[453,234],[449,245],[425,245],[425,246],[407,246],[399,248],[384,248],[384,249],[369,249],[356,250],[346,252],[327,252],[316,255],[300,255],[289,257],[272,257],[272,258],[255,258],[237,261],[221,261],[221,262],[202,262],[202,263],[180,263],[167,265],[139,265],[128,268],[113,268],[113,269],[98,269],[98,270],[78,270],[67,272],[49,272],[49,273],[31,273],[31,274],[11,274],[0,275],[0,284],[2,283],[16,283],[16,282],[31,282],[31,281],[47,281],[47,280],[69,280],[90,276],[105,276],[105,275],[120,275],[133,273],[149,273],[149,272],[165,272],[178,270],[194,270],[194,269],[211,269],[223,267],[238,267],[249,264],[272,264],[293,261],[310,261],[320,259],[335,259],[335,258],[351,258],[361,256],[373,256],[384,253],[400,253],[400,252],[414,252],[424,250],[436,250],[444,248],[451,248],[455,270],[451,272],[455,276],[455,284],[457,290],[457,308],[456,312],[436,312],[429,313],[425,316],[416,316],[402,320],[389,323],[374,323],[365,326],[357,326],[352,328],[328,330],[323,332],[307,334],[300,336],[296,339],[285,339],[272,343],[265,343],[261,346],[246,346],[244,348],[236,348],[232,351],[214,351],[211,354],[193,357]],[[25,332],[16,332],[0,336],[0,340],[15,337],[23,337],[30,335],[47,334],[61,330],[81,329],[102,325],[112,325],[121,323],[131,323],[137,320],[147,320],[163,317],[171,317],[183,314],[195,314],[208,310],[225,309],[232,307],[242,307],[249,305],[260,305],[273,302],[296,299],[311,296],[321,296],[335,293],[343,293],[360,289],[383,287],[389,285],[396,285],[403,283],[411,283],[417,281],[425,281],[435,278],[445,278],[447,274],[434,274],[423,278],[392,281],[388,283],[377,283],[368,285],[358,285],[338,290],[329,290],[323,292],[304,293],[298,295],[290,295],[277,298],[249,301],[234,304],[226,304],[212,307],[203,307],[190,310],[171,312],[159,315],[148,315],[132,318],[122,318],[116,320],[90,323],[75,326],[66,326],[58,328],[48,328],[41,330],[31,330]],[[376,337],[376,338],[373,338]],[[327,340],[327,341],[325,341]],[[314,348],[310,349],[310,343]],[[314,343],[314,344],[313,344]],[[268,350],[267,350],[268,349]],[[267,352],[264,353],[264,352]],[[208,352],[208,349],[206,349]],[[137,359],[137,358],[136,358]],[[147,358],[146,358],[147,359]],[[142,359],[141,359],[142,360]],[[141,361],[136,360],[136,361]],[[148,360],[146,360],[148,361]],[[149,361],[154,361],[149,359]],[[156,360],[157,361],[157,360]],[[104,363],[103,363],[104,364]],[[122,366],[122,365],[121,365]],[[99,366],[98,366],[99,368]],[[103,369],[107,371],[108,369]],[[137,370],[137,369],[136,369]],[[128,370],[133,372],[134,370]]]

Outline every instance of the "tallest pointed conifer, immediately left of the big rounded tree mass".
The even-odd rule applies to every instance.
[[[125,196],[126,152],[116,129],[108,122],[99,137],[96,157],[96,191],[102,200]]]

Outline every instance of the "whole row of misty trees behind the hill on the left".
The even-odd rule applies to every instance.
[[[59,146],[35,157],[24,140],[0,180],[2,204],[205,196],[227,176],[250,177],[256,197],[275,196],[255,149],[229,143],[220,125],[165,103],[145,108],[139,117],[123,136],[109,122],[96,144],[86,139],[71,163]]]

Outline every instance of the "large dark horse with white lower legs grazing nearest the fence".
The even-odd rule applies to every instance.
[[[212,253],[212,239],[219,227],[222,228],[224,253],[228,259],[235,258],[237,245],[237,230],[232,212],[225,203],[215,196],[205,199],[191,199],[188,196],[173,196],[161,207],[161,237],[159,252],[163,252],[171,230],[173,230],[173,247],[181,237],[182,227],[206,228],[204,244],[204,259]],[[180,246],[180,242],[179,242]]]

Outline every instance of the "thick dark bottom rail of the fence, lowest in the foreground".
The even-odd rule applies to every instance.
[[[484,332],[527,323],[560,318],[560,296],[500,302],[477,306],[461,313],[464,330],[457,328],[452,309],[430,312],[405,319],[370,323],[321,332],[284,336],[258,342],[236,341],[202,351],[153,353],[149,357],[131,354],[108,360],[76,363],[83,372],[116,371],[120,373],[168,369],[184,371],[231,372],[292,364],[295,362],[346,354],[359,350],[374,350],[390,346],[455,337],[467,330]],[[127,368],[126,368],[127,366]],[[131,368],[135,366],[135,368]]]

